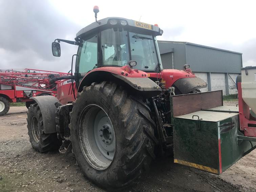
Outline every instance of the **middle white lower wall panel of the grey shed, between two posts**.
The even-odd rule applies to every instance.
[[[223,95],[226,95],[225,73],[211,73],[212,91],[222,90]]]

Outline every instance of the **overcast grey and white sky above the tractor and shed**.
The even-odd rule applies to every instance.
[[[124,17],[164,30],[158,40],[187,41],[243,53],[243,66],[256,66],[254,1],[88,1],[0,0],[0,68],[36,68],[67,72],[77,46],[61,43],[61,57],[51,54],[57,38],[73,40],[98,19]]]

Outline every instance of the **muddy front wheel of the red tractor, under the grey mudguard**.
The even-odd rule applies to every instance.
[[[37,103],[30,105],[28,108],[27,129],[32,147],[40,153],[60,148],[61,142],[58,140],[56,133],[44,133],[42,113]]]

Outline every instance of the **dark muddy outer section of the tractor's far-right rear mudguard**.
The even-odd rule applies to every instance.
[[[207,87],[207,83],[198,77],[182,78],[175,81],[173,86],[175,86],[175,88],[177,88],[182,94],[187,94],[196,89]]]

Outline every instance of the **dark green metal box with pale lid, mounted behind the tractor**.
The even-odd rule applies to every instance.
[[[221,174],[256,146],[256,142],[239,140],[240,134],[235,106],[174,116],[174,162]]]

